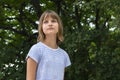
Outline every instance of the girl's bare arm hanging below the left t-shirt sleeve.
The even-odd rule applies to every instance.
[[[37,63],[32,58],[29,57],[27,59],[26,80],[36,80],[36,68],[37,68]]]

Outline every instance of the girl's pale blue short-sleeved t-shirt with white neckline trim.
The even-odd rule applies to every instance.
[[[42,42],[31,47],[26,59],[28,57],[38,64],[36,80],[63,80],[65,67],[71,65],[63,49],[52,49]]]

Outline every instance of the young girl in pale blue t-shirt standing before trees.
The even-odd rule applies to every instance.
[[[68,54],[58,44],[63,41],[63,27],[57,13],[46,10],[40,17],[38,43],[27,57],[26,80],[63,80]]]

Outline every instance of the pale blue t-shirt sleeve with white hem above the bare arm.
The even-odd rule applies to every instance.
[[[37,46],[33,45],[33,46],[30,48],[30,50],[29,50],[29,52],[28,52],[28,54],[27,54],[26,60],[27,60],[29,57],[32,58],[36,63],[39,62],[40,57],[41,57],[41,52],[39,51],[39,48],[38,48]]]

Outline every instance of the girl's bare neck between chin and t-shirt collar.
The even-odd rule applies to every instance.
[[[51,48],[54,48],[54,49],[58,48],[56,37],[52,37],[52,36],[46,37],[43,43]]]

